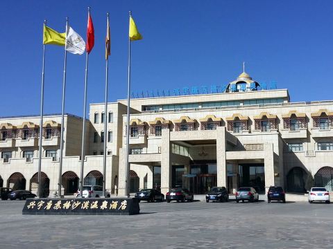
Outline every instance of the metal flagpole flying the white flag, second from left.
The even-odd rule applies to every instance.
[[[68,17],[66,17],[66,35],[68,27]],[[59,156],[59,178],[58,178],[58,196],[61,198],[61,186],[62,186],[62,152],[64,150],[64,131],[65,131],[65,93],[66,93],[66,66],[67,66],[67,50],[65,44],[65,65],[64,65],[64,77],[62,80],[62,110],[61,110],[61,131],[60,131],[60,156]]]

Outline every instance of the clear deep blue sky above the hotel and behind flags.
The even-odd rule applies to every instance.
[[[42,25],[85,38],[92,8],[88,103],[104,101],[110,12],[109,101],[126,98],[128,11],[144,36],[132,44],[132,89],[221,85],[246,72],[289,89],[291,101],[332,100],[333,1],[6,1],[1,5],[0,116],[38,114]],[[45,113],[61,112],[64,50],[46,46]],[[83,116],[85,56],[68,54],[65,111]]]

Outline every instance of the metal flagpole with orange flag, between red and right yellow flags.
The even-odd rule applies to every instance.
[[[107,15],[107,36],[109,30],[109,13]],[[108,39],[108,38],[107,38]],[[105,44],[106,45],[106,44]],[[108,48],[105,48],[105,53],[108,53]],[[103,153],[103,197],[105,197],[105,184],[106,184],[106,143],[108,142],[107,134],[108,134],[108,71],[109,71],[109,57],[107,56],[105,62],[105,107],[104,107],[104,153]]]

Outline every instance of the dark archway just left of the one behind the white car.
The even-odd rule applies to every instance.
[[[301,167],[293,167],[287,174],[287,190],[289,192],[305,193],[307,172]]]

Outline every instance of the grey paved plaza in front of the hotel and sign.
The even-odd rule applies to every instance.
[[[22,215],[0,201],[0,248],[332,248],[333,205],[140,203],[135,216]]]

